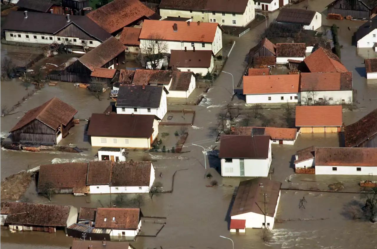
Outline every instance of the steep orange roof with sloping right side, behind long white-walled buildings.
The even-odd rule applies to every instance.
[[[311,73],[336,73],[348,72],[340,59],[330,50],[318,48],[304,59]]]

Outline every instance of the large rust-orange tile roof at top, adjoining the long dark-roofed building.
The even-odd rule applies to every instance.
[[[141,17],[149,17],[155,12],[139,0],[114,0],[86,16],[109,33],[135,22]]]

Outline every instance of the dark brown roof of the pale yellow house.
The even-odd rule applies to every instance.
[[[153,115],[93,113],[87,135],[150,138],[154,120]]]

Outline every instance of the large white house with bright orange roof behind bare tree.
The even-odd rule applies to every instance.
[[[218,23],[144,20],[140,36],[141,53],[143,49],[158,51],[158,41],[166,42],[166,49],[171,50],[211,50],[214,55],[222,49],[222,30]],[[154,48],[151,44],[156,41]],[[161,49],[160,49],[161,50]]]

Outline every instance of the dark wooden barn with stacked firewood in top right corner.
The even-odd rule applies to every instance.
[[[374,0],[335,0],[327,6],[328,14],[351,15],[354,19],[368,19],[377,14],[377,1]]]

